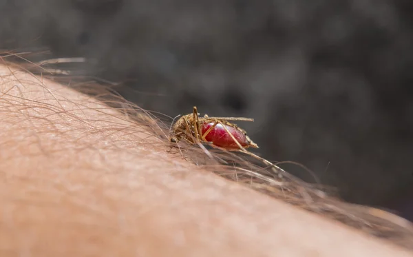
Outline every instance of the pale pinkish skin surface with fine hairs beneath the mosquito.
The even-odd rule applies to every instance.
[[[202,172],[79,92],[0,74],[0,256],[412,256]]]

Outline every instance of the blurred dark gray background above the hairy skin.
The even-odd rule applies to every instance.
[[[124,82],[148,110],[252,117],[240,125],[265,158],[413,220],[412,11],[401,0],[0,0],[0,48],[95,60],[82,69]]]

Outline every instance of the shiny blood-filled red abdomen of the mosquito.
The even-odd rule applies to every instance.
[[[209,130],[210,127],[213,126],[214,123],[204,123],[202,124],[202,135]],[[248,142],[246,135],[241,130],[237,130],[235,127],[231,127],[229,125],[225,125],[226,129],[234,136],[234,138],[242,145],[242,147],[246,147],[250,144]],[[237,143],[233,140],[233,138],[226,132],[224,129],[224,125],[218,124],[216,125],[211,132],[205,136],[205,140],[208,142],[213,143],[218,147],[226,148],[226,149],[240,149]]]

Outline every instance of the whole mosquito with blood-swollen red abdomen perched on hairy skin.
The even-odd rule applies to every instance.
[[[176,118],[178,118],[178,116]],[[279,171],[284,172],[284,169],[281,169],[270,161],[252,152],[248,152],[246,148],[258,148],[258,145],[246,135],[245,130],[242,130],[242,128],[230,121],[254,121],[254,119],[243,117],[210,117],[207,114],[200,117],[197,107],[194,106],[193,113],[181,116],[176,123],[171,125],[171,136],[169,140],[173,143],[184,140],[191,144],[198,144],[202,148],[204,148],[202,143],[208,143],[212,147],[229,151],[240,151],[259,159],[266,165],[270,165],[276,173],[279,173]],[[212,157],[210,154],[208,155]]]

